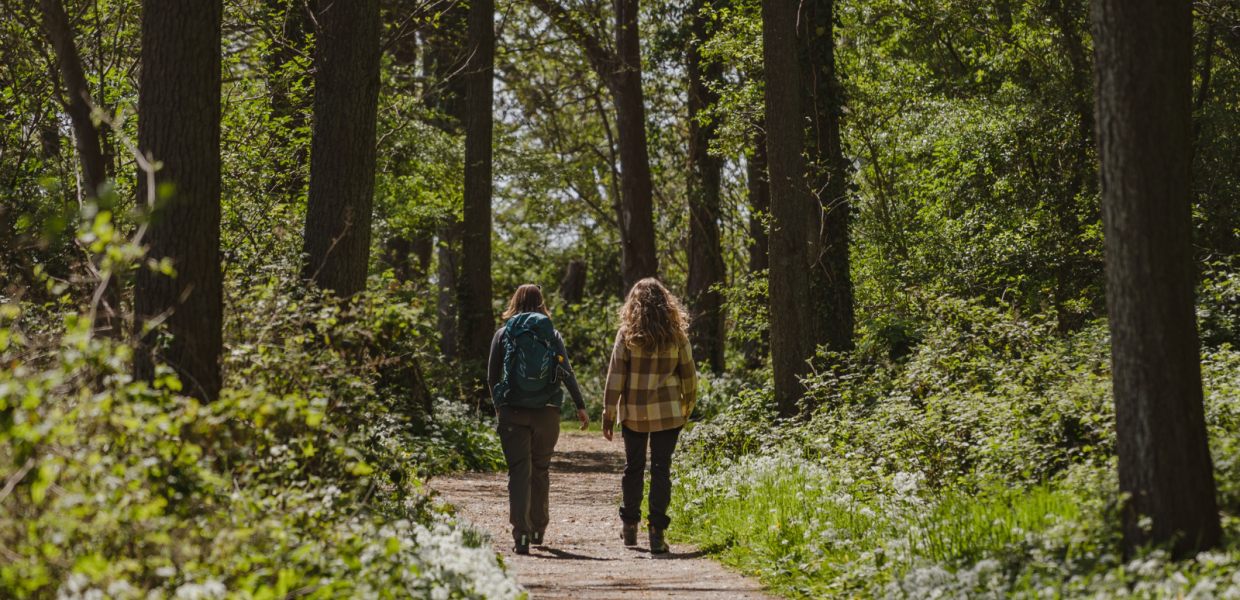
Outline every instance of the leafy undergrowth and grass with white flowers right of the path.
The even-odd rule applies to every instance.
[[[1229,341],[1203,350],[1229,542],[1125,560],[1105,325],[1064,337],[934,299],[915,332],[906,352],[879,338],[820,357],[805,419],[777,420],[750,388],[688,431],[672,534],[791,598],[1240,598]]]

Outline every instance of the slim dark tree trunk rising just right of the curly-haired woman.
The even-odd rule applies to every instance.
[[[723,249],[719,244],[719,195],[723,159],[711,154],[711,143],[717,136],[718,125],[703,125],[703,113],[719,102],[719,94],[711,89],[723,78],[723,66],[718,62],[704,64],[702,45],[706,43],[706,17],[702,10],[706,0],[691,4],[689,30],[693,37],[688,48],[688,104],[689,104],[689,234],[688,278],[684,291],[689,300],[693,321],[689,338],[693,341],[693,358],[698,364],[709,364],[715,373],[724,369],[724,315],[723,299],[713,288],[723,281]]]

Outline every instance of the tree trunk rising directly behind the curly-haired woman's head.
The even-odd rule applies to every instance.
[[[646,102],[641,90],[639,0],[616,0],[615,69],[608,87],[616,105],[620,146],[620,274],[625,291],[658,274],[655,244],[655,186],[646,146]]]

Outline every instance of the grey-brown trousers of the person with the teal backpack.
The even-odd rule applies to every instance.
[[[559,408],[500,407],[500,444],[508,461],[512,539],[546,532],[551,522],[551,455],[559,440]]]

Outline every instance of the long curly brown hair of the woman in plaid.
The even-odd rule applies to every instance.
[[[637,281],[620,309],[620,336],[632,348],[660,351],[688,338],[688,315],[655,278]]]

